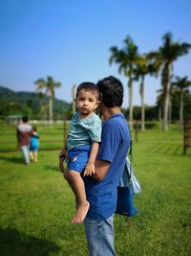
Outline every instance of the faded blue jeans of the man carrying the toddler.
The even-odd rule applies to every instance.
[[[104,221],[84,221],[90,256],[116,256],[114,216]]]

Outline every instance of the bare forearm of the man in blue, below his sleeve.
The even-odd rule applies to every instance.
[[[95,174],[91,177],[96,179],[97,181],[101,181],[108,172],[111,163],[105,160],[96,160],[95,163]]]

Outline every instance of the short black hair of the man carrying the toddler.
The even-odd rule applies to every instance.
[[[121,106],[123,102],[123,85],[117,78],[110,76],[98,81],[97,87],[102,96],[102,102],[107,107]]]

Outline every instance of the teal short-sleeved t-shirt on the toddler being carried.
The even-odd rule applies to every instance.
[[[101,141],[101,121],[99,117],[93,113],[87,118],[78,119],[79,114],[79,111],[74,114],[70,124],[67,140],[68,150]]]

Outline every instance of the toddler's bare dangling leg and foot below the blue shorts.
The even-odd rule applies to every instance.
[[[90,203],[86,198],[83,179],[79,173],[68,170],[65,171],[65,178],[69,181],[77,198],[77,208],[72,222],[81,223],[84,221],[90,207]]]

